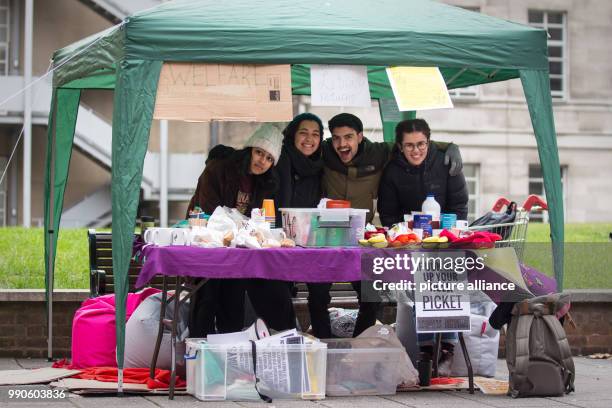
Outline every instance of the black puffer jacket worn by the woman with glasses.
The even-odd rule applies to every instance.
[[[384,226],[404,221],[404,214],[421,211],[427,194],[434,194],[442,213],[467,219],[468,189],[463,173],[448,174],[444,152],[429,143],[429,151],[420,166],[413,166],[402,152],[395,151],[385,168],[378,189],[378,213]]]

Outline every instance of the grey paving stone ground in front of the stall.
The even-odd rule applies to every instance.
[[[167,396],[79,396],[70,394],[61,401],[8,401],[11,387],[0,386],[0,407],[42,407],[47,408],[111,408],[111,407],[150,407],[150,408],[187,408],[187,407],[287,407],[287,408],[612,408],[612,360],[591,360],[576,357],[576,392],[560,398],[521,398],[484,395],[478,391],[470,395],[467,391],[421,391],[398,393],[377,397],[330,397],[321,401],[274,401],[263,402],[203,402],[184,395],[169,400]],[[48,366],[41,359],[0,359],[0,370],[38,368]],[[498,361],[497,377],[507,378],[506,362]],[[14,387],[13,387],[14,388]],[[23,388],[23,387],[20,387]],[[29,388],[47,389],[45,385]]]

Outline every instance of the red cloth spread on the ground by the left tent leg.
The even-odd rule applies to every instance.
[[[84,380],[97,380],[103,382],[117,382],[117,367],[90,367],[85,368],[80,374],[72,376],[72,378],[81,378]],[[123,382],[129,384],[146,384],[149,389],[169,388],[170,387],[170,371],[155,369],[155,378],[149,378],[148,368],[124,368]],[[184,388],[187,383],[179,376],[176,377],[176,388]]]

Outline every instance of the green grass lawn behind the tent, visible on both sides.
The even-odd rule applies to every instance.
[[[612,224],[567,224],[564,287],[612,288]],[[552,275],[548,224],[529,225],[525,263]],[[44,288],[44,244],[41,228],[0,228],[0,288]],[[86,229],[62,229],[59,235],[55,287],[89,288]]]

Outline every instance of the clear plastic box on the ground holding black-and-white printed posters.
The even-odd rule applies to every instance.
[[[257,346],[255,388],[250,343],[208,344],[187,339],[187,392],[202,401],[323,399],[327,345]]]

